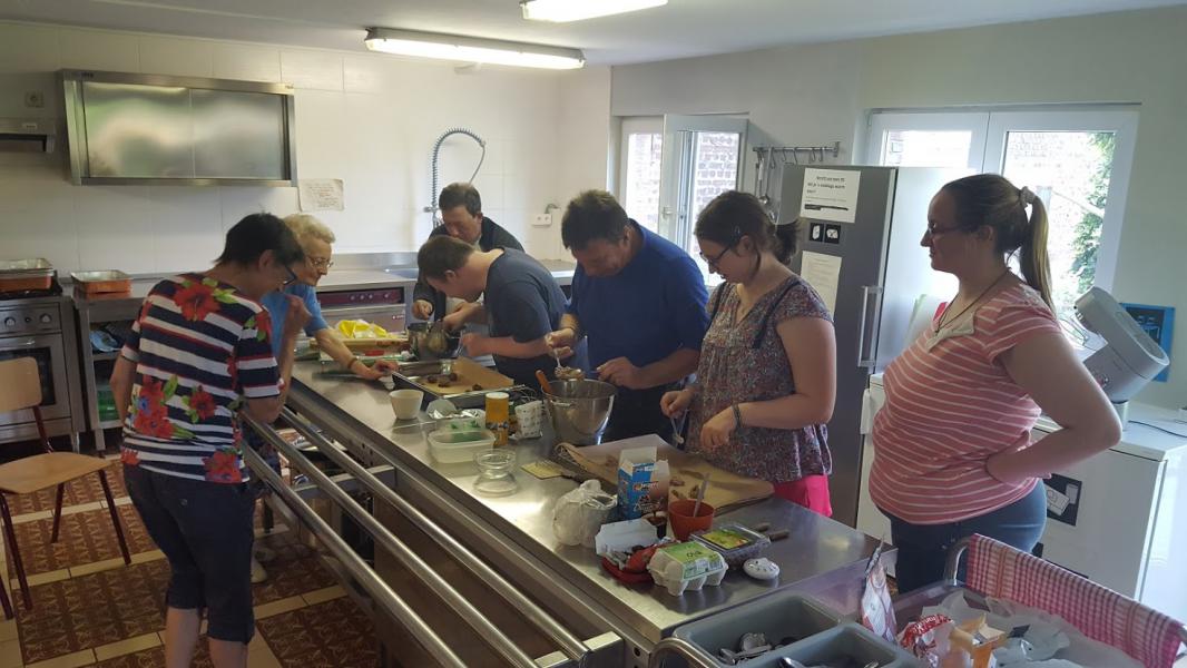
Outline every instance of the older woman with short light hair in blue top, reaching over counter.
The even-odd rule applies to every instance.
[[[305,335],[317,339],[318,348],[324,350],[335,362],[342,364],[343,369],[369,381],[391,375],[395,370],[395,364],[385,360],[375,362],[374,367],[363,364],[322,317],[322,306],[317,301],[316,287],[317,281],[330,273],[330,267],[334,266],[334,260],[330,259],[332,254],[330,244],[335,241],[334,233],[324,223],[307,214],[286,216],[285,224],[292,230],[305,252],[305,263],[297,268],[294,279],[286,284],[284,290],[264,298],[264,306],[272,314],[272,322],[278,327],[284,325],[285,314],[288,312],[288,301],[285,295],[292,294],[304,301],[305,308],[310,312]],[[280,339],[273,339],[272,345],[275,349],[280,343]],[[273,350],[273,352],[279,354],[279,350]]]

